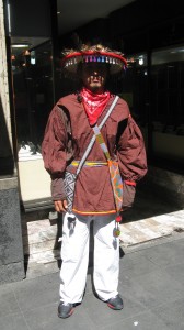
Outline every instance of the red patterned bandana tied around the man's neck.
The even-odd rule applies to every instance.
[[[93,94],[83,88],[81,91],[83,106],[91,125],[94,125],[110,100],[110,91]]]

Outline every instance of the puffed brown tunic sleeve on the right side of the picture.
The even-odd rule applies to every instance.
[[[118,141],[117,156],[122,177],[127,183],[137,183],[146,175],[147,155],[143,136],[130,114]]]

